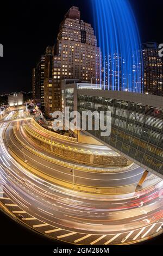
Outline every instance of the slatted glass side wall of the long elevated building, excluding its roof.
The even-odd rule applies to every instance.
[[[78,111],[110,111],[109,137],[102,137],[101,131],[94,129],[87,132],[148,170],[163,175],[162,109],[108,97],[78,95]]]

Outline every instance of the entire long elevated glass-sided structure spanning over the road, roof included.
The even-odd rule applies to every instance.
[[[84,131],[117,153],[163,178],[163,97],[62,84],[71,111],[110,111],[111,135]]]

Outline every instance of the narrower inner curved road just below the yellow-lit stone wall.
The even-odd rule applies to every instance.
[[[33,147],[39,151],[40,149],[38,145],[31,141],[29,137],[23,133],[23,129],[21,129],[22,126],[18,124],[16,126],[17,129],[15,129],[15,133],[18,139],[20,139],[20,141],[23,142],[24,145],[28,145],[29,147]],[[17,139],[14,136],[13,128],[13,124],[8,126],[8,129],[5,132],[5,141],[7,142],[7,147],[14,151],[14,153],[22,161],[28,161],[28,166],[40,170],[40,172],[43,174],[53,176],[56,179],[62,181],[71,183],[73,182],[73,173],[71,172],[72,167],[67,168],[64,165],[59,166],[58,164],[49,161],[49,159],[43,159],[43,157],[36,155],[33,152],[30,152],[26,148],[26,146],[22,147],[22,145],[18,143]],[[43,151],[43,149],[41,149],[41,151]],[[43,153],[47,154],[46,151]],[[96,173],[93,171],[83,172],[83,170],[78,170],[77,168],[74,167],[74,182],[78,186],[91,186],[96,188],[122,187],[122,190],[124,190],[124,186],[131,186],[132,188],[133,186],[135,186],[136,188],[137,183],[139,182],[142,174],[143,169],[135,165],[131,166],[131,168],[127,170],[118,173],[109,173],[109,171],[108,173]],[[153,174],[149,174],[148,179],[151,179],[153,177]]]

